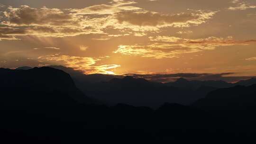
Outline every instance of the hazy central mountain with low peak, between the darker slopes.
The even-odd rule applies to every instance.
[[[206,94],[201,90],[186,90],[130,76],[93,83],[83,91],[89,96],[101,99],[111,105],[125,103],[151,108],[158,108],[165,102],[187,105]]]

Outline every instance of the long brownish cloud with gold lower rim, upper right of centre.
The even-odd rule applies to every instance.
[[[157,12],[136,12],[122,11],[116,14],[120,24],[129,23],[135,26],[150,27],[189,27],[190,25],[199,25],[205,23],[216,12],[196,11],[192,13],[180,13],[173,15],[164,15]]]

